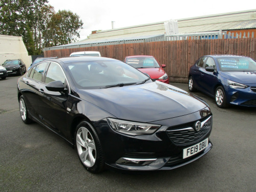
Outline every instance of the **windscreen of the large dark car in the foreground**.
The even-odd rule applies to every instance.
[[[84,61],[69,63],[73,81],[80,89],[99,89],[116,84],[138,84],[146,75],[121,61]],[[148,80],[148,82],[152,82]]]

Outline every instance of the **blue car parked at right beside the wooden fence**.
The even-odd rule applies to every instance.
[[[256,62],[237,55],[206,55],[189,70],[188,89],[211,97],[219,108],[256,106]]]

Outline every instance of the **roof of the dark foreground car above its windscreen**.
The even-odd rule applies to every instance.
[[[119,61],[117,59],[107,58],[107,57],[61,57],[50,59],[52,61],[62,61],[63,63],[71,63],[71,62],[82,62],[82,61]]]

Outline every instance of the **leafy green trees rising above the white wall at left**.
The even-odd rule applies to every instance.
[[[0,34],[22,36],[30,55],[44,47],[75,42],[82,21],[71,11],[58,11],[47,0],[1,0]]]

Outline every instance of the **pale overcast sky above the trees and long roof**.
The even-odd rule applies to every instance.
[[[92,31],[164,22],[203,15],[256,9],[255,0],[48,0],[57,12],[70,10],[80,16],[83,29],[80,39]]]

